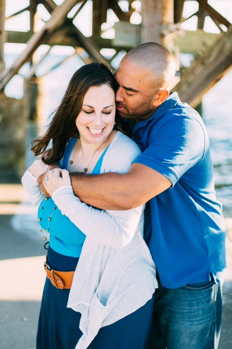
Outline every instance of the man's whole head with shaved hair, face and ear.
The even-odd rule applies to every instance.
[[[162,45],[146,43],[129,51],[115,73],[120,116],[147,119],[168,98],[175,70],[173,56]]]

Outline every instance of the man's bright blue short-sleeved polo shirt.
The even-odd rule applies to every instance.
[[[134,162],[171,181],[150,200],[147,236],[161,284],[177,288],[220,280],[225,262],[225,224],[214,190],[209,138],[199,114],[176,92],[133,128],[142,150]],[[148,211],[149,210],[149,211]],[[146,235],[149,227],[146,224]]]

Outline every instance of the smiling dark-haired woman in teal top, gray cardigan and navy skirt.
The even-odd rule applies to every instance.
[[[140,153],[115,118],[117,85],[102,64],[73,75],[47,132],[32,142],[46,151],[22,178],[38,220],[50,233],[37,349],[146,348],[155,267],[142,238],[143,208],[104,211],[74,196],[69,172],[127,172]],[[47,173],[47,199],[38,176]],[[40,229],[42,232],[42,229]],[[46,236],[43,237],[46,239]]]

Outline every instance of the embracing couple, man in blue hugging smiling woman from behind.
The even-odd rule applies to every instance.
[[[32,142],[42,157],[22,183],[50,233],[37,349],[217,348],[225,226],[205,126],[174,75],[156,43],[114,76],[83,66]]]

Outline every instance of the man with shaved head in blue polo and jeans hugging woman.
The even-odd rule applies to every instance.
[[[125,55],[115,74],[115,100],[143,153],[128,173],[71,174],[71,182],[81,201],[102,209],[127,210],[150,200],[145,235],[160,279],[150,348],[217,348],[225,226],[205,126],[169,94],[174,75],[174,59],[159,44]]]

